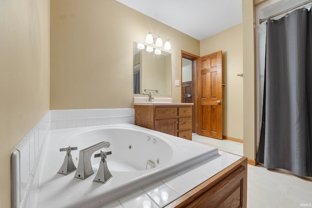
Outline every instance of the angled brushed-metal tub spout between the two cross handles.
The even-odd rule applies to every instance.
[[[79,151],[78,168],[76,170],[75,178],[86,179],[94,173],[91,165],[91,155],[102,148],[111,146],[109,142],[100,142]]]

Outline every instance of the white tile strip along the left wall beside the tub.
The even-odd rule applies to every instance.
[[[38,187],[36,170],[42,146],[50,132],[50,111],[27,133],[11,156],[11,206],[29,208]]]

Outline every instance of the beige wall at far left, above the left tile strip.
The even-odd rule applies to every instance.
[[[0,207],[10,207],[10,155],[49,110],[50,0],[0,2]]]

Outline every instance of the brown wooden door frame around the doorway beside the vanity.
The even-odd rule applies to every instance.
[[[181,80],[181,84],[180,84],[180,98],[181,98],[181,102],[182,102],[182,58],[186,58],[189,60],[193,61],[193,66],[192,66],[192,103],[194,103],[193,106],[193,118],[192,118],[192,123],[193,123],[193,127],[192,127],[192,132],[197,133],[197,105],[196,105],[196,98],[197,98],[197,71],[198,71],[198,67],[200,66],[200,57],[196,56],[194,54],[191,54],[189,52],[183,51],[181,50],[181,61],[180,61],[180,80]]]

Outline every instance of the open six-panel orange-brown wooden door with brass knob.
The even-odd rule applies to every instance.
[[[222,139],[222,51],[200,57],[197,96],[197,133]]]

